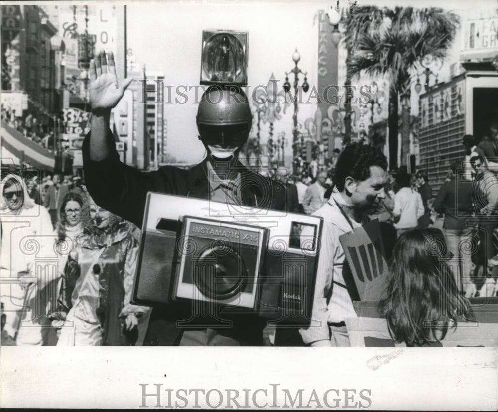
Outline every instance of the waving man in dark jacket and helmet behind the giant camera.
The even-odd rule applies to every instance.
[[[110,112],[123,97],[132,79],[118,85],[112,53],[101,52],[90,65],[91,131],[83,143],[83,165],[88,191],[106,210],[141,227],[148,191],[181,195],[217,202],[239,202],[244,206],[268,205],[285,210],[286,191],[278,182],[268,179],[266,188],[257,185],[260,176],[238,160],[247,141],[252,114],[247,96],[237,87],[208,88],[197,113],[199,140],[207,151],[206,158],[190,170],[163,166],[157,171],[142,172],[120,161],[115,139],[109,128]],[[230,171],[236,173],[229,173]],[[230,180],[213,183],[213,172]],[[268,196],[271,199],[268,200]],[[213,305],[206,303],[205,305]],[[205,308],[206,309],[206,308]],[[262,346],[266,320],[256,313],[219,313],[201,316],[193,312],[192,303],[156,306],[151,313],[144,346]],[[202,310],[199,311],[202,313]],[[190,326],[179,327],[178,321],[189,320]],[[230,327],[227,327],[227,321]]]

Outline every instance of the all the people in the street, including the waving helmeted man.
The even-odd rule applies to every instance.
[[[481,266],[498,263],[496,224],[490,219],[498,214],[498,180],[489,167],[493,159],[479,153],[477,145],[469,147],[468,158],[452,165],[435,199],[425,171],[413,176],[403,169],[388,171],[380,148],[362,142],[336,152],[332,170],[310,168],[300,179],[291,177],[282,190],[277,176],[271,179],[269,173],[269,186],[261,185],[261,177],[238,160],[252,126],[243,89],[211,87],[201,98],[196,119],[207,154],[203,161],[189,170],[165,166],[141,172],[121,162],[109,127],[110,110],[131,79],[118,84],[112,53],[101,52],[89,73],[94,116],[82,147],[85,184],[77,176],[58,175],[25,182],[9,174],[1,181],[1,271],[2,279],[12,280],[10,288],[2,285],[2,343],[45,344],[50,330],[58,345],[136,342],[137,325],[149,311],[131,303],[138,226],[148,192],[323,218],[311,324],[277,328],[277,346],[350,345],[345,320],[357,316],[353,302],[359,294],[340,237],[372,218],[379,220],[389,261],[388,286],[377,301],[392,338],[408,346],[431,346],[458,322],[473,319],[467,298],[476,296],[477,288],[466,283],[469,265],[463,262],[474,251],[462,242],[478,231]],[[492,141],[496,150],[496,133]],[[473,180],[465,181],[460,178],[468,172],[467,163]],[[439,228],[438,214],[444,215]],[[467,224],[471,218],[477,219],[477,229]],[[20,225],[26,221],[30,224]],[[50,250],[59,255],[56,276],[37,270],[40,252],[26,253],[29,248],[23,244],[29,237],[37,239],[43,256]],[[446,247],[429,247],[441,238]],[[456,258],[458,253],[462,258]],[[44,293],[47,288],[54,293]],[[143,345],[265,343],[267,320],[258,313],[227,313],[209,300],[198,304],[201,309],[190,301],[154,306]]]

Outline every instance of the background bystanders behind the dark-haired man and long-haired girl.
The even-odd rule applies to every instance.
[[[406,168],[392,169],[383,197],[368,209],[370,219],[392,225],[398,237],[415,228],[441,229],[453,255],[450,265],[455,282],[466,297],[498,293],[497,275],[492,269],[498,264],[498,226],[493,221],[498,210],[498,138],[494,124],[490,136],[481,140],[472,135],[463,137],[466,156],[450,165],[437,194],[425,170],[412,175]],[[300,178],[291,177],[301,212],[313,214],[337,191],[334,169],[335,162],[334,168],[318,171],[313,178],[311,169]],[[470,250],[472,242],[476,251]],[[484,289],[483,282],[487,283]]]

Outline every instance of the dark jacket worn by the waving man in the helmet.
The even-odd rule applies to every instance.
[[[114,142],[109,130],[107,138]],[[174,166],[163,166],[157,171],[142,172],[127,166],[113,150],[102,161],[90,160],[90,133],[83,143],[83,167],[85,184],[95,202],[110,212],[142,227],[147,192],[189,196],[209,199],[209,182],[206,169],[207,159],[184,170]],[[114,146],[114,145],[113,145]],[[286,190],[281,183],[268,179],[272,193],[261,187],[261,176],[250,171],[241,163],[237,165],[241,177],[241,201],[244,206],[265,205],[268,209],[286,210]],[[144,346],[169,346],[179,343],[182,331],[186,329],[213,328],[221,335],[237,339],[241,345],[263,344],[262,330],[266,319],[253,313],[212,313],[192,316],[191,304],[174,303],[154,307],[144,340]],[[180,325],[178,322],[181,321]]]

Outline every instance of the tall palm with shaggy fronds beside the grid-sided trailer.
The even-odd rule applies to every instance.
[[[398,99],[401,103],[402,163],[410,138],[412,73],[424,58],[443,62],[453,44],[458,16],[441,8],[358,7],[346,23],[348,75],[387,75],[389,91],[389,164],[397,166]],[[349,33],[356,29],[357,33]]]

